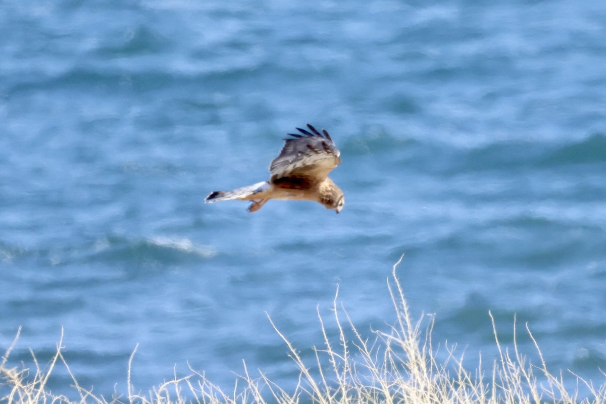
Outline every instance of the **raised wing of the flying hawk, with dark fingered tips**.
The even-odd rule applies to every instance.
[[[301,134],[289,133],[293,138],[284,139],[284,147],[271,162],[271,182],[280,179],[298,179],[306,184],[324,180],[330,170],[341,164],[341,152],[330,134],[307,124],[310,131],[297,128]]]

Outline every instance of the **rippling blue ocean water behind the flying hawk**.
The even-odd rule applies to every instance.
[[[267,314],[313,365],[337,285],[359,330],[395,322],[404,254],[413,316],[470,369],[490,311],[603,383],[605,38],[603,0],[3,0],[0,352],[21,326],[9,365],[44,366],[63,329],[98,394],[137,345],[135,390],[191,366],[230,391],[242,360],[288,388]],[[341,150],[341,214],[203,203],[307,122]]]

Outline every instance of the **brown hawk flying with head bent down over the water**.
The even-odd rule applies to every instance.
[[[315,200],[339,213],[345,205],[341,188],[328,178],[328,173],[341,164],[341,152],[330,134],[307,124],[301,134],[289,133],[284,147],[269,166],[270,179],[231,191],[213,191],[205,202],[251,200],[248,212],[256,212],[270,199]]]

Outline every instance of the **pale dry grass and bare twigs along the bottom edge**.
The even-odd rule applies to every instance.
[[[32,352],[33,377],[25,367],[8,368],[7,359],[18,339],[8,348],[0,365],[0,402],[13,403],[606,403],[606,383],[595,388],[590,382],[565,373],[574,383],[584,386],[590,397],[579,399],[578,389],[567,391],[564,376],[547,370],[539,346],[530,330],[528,335],[536,346],[540,362],[531,365],[518,350],[502,348],[494,336],[499,359],[491,364],[488,377],[481,364],[473,371],[462,365],[462,357],[448,351],[446,360],[439,362],[433,351],[431,326],[421,329],[421,322],[413,322],[402,287],[396,277],[396,263],[388,288],[393,301],[397,322],[387,333],[374,331],[369,340],[358,332],[347,312],[334,302],[334,316],[338,337],[331,340],[327,335],[324,319],[318,311],[324,347],[316,349],[315,363],[305,363],[299,351],[280,333],[270,320],[276,333],[284,340],[290,357],[299,369],[298,385],[294,391],[286,391],[271,382],[264,373],[251,376],[244,364],[244,375],[236,381],[233,391],[225,392],[209,382],[204,374],[191,369],[191,375],[171,380],[153,388],[146,395],[133,392],[128,371],[128,392],[124,397],[105,399],[82,388],[65,362],[61,341],[52,360],[42,369]],[[493,320],[494,328],[494,320]],[[346,336],[351,336],[347,338]],[[515,330],[514,330],[515,335]],[[136,351],[136,349],[135,349]],[[135,353],[133,352],[133,356]],[[129,369],[133,360],[131,356]],[[72,375],[77,399],[55,396],[46,388],[48,377],[56,365],[65,366]],[[570,382],[570,380],[568,380]]]

